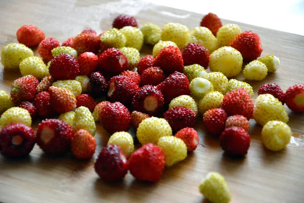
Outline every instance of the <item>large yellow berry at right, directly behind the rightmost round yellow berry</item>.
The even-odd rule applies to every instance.
[[[261,126],[272,120],[284,123],[289,121],[287,112],[281,101],[271,94],[260,94],[255,99],[253,119]]]

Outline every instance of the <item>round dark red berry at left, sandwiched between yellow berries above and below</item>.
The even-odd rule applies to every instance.
[[[51,60],[49,72],[54,80],[74,80],[79,75],[79,63],[74,56],[60,54]]]

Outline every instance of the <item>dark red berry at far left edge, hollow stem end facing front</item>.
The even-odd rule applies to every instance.
[[[35,145],[33,129],[22,123],[11,123],[0,131],[0,152],[8,158],[27,156]]]

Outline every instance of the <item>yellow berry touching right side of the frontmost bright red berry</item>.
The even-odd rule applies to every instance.
[[[187,157],[187,146],[179,138],[174,136],[161,137],[157,145],[164,152],[166,166],[172,166]]]

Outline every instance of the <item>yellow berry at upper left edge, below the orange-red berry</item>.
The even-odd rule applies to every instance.
[[[20,62],[33,55],[33,51],[25,45],[11,43],[2,48],[1,63],[5,69],[19,69]]]

